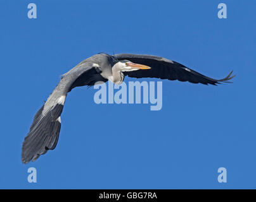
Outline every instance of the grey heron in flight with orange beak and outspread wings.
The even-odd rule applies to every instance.
[[[93,86],[106,81],[119,85],[125,76],[217,85],[232,83],[229,80],[236,76],[232,76],[232,73],[221,80],[215,80],[164,57],[106,53],[91,56],[61,75],[60,82],[35,114],[22,144],[22,163],[34,162],[48,150],[54,150],[60,134],[61,112],[67,93],[77,86]]]

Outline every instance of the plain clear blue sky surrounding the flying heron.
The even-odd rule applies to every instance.
[[[37,5],[37,19],[27,18],[29,3]],[[217,17],[219,3],[226,3],[227,19]],[[2,0],[0,188],[255,189],[255,6]],[[93,88],[75,88],[56,149],[22,164],[23,138],[60,75],[98,52],[153,54],[213,78],[232,69],[237,76],[219,86],[163,81],[159,111],[98,105]],[[37,169],[37,183],[27,182],[29,167]],[[227,169],[227,183],[217,181],[219,167]]]

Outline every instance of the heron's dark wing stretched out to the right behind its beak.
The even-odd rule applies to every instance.
[[[231,76],[233,71],[229,73],[226,78],[221,80],[215,80],[214,78],[209,78],[203,74],[200,74],[193,69],[189,69],[186,66],[179,64],[175,61],[170,61],[163,57],[150,56],[150,55],[137,55],[137,54],[117,54],[115,55],[118,60],[127,59],[131,62],[144,64],[150,66],[151,69],[138,70],[138,71],[126,71],[125,76],[135,77],[135,78],[161,78],[168,80],[179,80],[179,81],[189,81],[191,83],[203,83],[205,85],[226,82],[231,83],[234,76]]]

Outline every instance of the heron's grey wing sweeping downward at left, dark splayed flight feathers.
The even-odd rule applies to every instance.
[[[60,83],[53,90],[41,109],[35,114],[30,131],[22,145],[22,162],[35,161],[58,142],[61,126],[61,112],[67,92],[75,86],[93,85],[102,76],[91,62],[81,62],[63,74]]]

